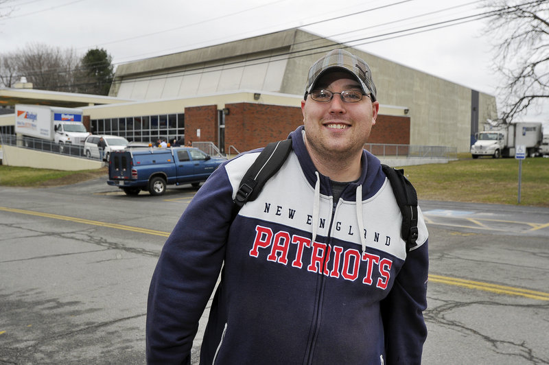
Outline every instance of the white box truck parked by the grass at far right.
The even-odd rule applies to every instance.
[[[492,156],[492,158],[514,157],[517,145],[526,147],[526,156],[540,154],[543,139],[541,122],[518,122],[510,124],[484,124],[484,131],[475,134],[476,142],[471,145],[471,155]]]

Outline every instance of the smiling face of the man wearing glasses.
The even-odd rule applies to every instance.
[[[344,71],[331,71],[321,76],[314,89],[325,89],[332,93],[358,90],[360,84]],[[334,94],[331,101],[320,103],[310,95],[301,101],[305,123],[305,145],[309,153],[324,158],[351,158],[362,154],[375,124],[379,103],[364,95],[360,102],[343,102],[340,94]]]

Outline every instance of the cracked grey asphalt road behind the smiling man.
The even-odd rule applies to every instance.
[[[0,364],[144,364],[152,270],[195,191],[127,197],[104,179],[0,187]],[[549,209],[421,207],[423,364],[549,364]]]

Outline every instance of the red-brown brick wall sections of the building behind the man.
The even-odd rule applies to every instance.
[[[226,104],[225,152],[233,145],[244,152],[264,147],[272,141],[286,139],[288,134],[303,124],[301,108],[265,104]],[[218,106],[185,108],[185,143],[212,141],[218,143]],[[196,130],[200,128],[200,139]],[[369,143],[410,143],[410,118],[378,115]],[[234,150],[231,149],[234,153]]]

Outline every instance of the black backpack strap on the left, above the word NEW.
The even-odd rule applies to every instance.
[[[269,143],[250,166],[235,197],[237,209],[257,198],[263,186],[280,169],[290,151],[292,139]]]

